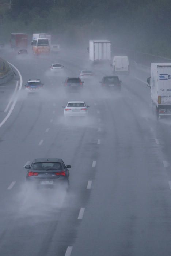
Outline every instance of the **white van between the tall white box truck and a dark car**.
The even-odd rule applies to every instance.
[[[113,72],[129,73],[129,60],[128,56],[114,56],[112,63]]]

